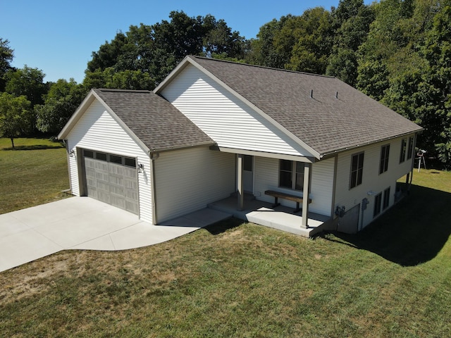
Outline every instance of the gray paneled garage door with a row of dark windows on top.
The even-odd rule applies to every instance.
[[[83,150],[87,196],[138,214],[136,159]]]

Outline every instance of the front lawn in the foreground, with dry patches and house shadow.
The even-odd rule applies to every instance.
[[[450,206],[451,173],[421,170],[354,236],[229,220],[141,249],[62,251],[0,273],[0,332],[451,337]]]

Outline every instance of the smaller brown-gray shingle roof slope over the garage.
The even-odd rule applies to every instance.
[[[150,150],[214,144],[183,113],[153,92],[93,90]]]

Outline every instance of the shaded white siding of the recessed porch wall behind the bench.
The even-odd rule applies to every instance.
[[[255,157],[254,175],[256,198],[260,201],[273,203],[274,198],[265,195],[266,190],[276,190],[303,196],[302,192],[278,187],[279,160],[276,158]],[[334,159],[314,163],[311,168],[311,204],[309,211],[321,215],[330,215],[333,195]],[[296,203],[280,199],[280,204],[295,208]]]

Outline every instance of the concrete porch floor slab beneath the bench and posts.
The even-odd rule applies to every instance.
[[[307,227],[302,227],[302,211],[295,213],[293,208],[287,206],[273,207],[273,204],[258,201],[252,194],[244,194],[243,208],[237,208],[237,196],[231,195],[227,199],[213,202],[209,208],[232,214],[235,218],[247,220],[252,223],[283,230],[303,237],[312,237],[323,230],[328,230],[331,218],[325,215],[309,212]]]

